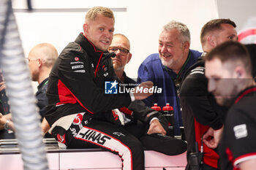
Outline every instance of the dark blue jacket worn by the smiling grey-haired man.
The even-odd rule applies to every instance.
[[[189,50],[190,58],[189,61],[187,61],[183,72],[181,72],[181,80],[184,77],[184,72],[197,61],[197,58],[199,58],[201,54],[202,53],[196,50]],[[138,83],[151,81],[154,82],[154,86],[157,86],[157,88],[162,88],[162,93],[154,93],[143,101],[148,107],[158,104],[158,106],[162,108],[169,103],[174,111],[175,135],[179,135],[179,127],[183,124],[181,121],[181,107],[177,96],[177,88],[172,79],[176,76],[177,74],[173,72],[173,70],[162,65],[162,62],[159,59],[159,54],[154,53],[149,55],[145,61],[140,64],[137,81]]]

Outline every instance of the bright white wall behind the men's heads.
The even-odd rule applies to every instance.
[[[31,0],[36,9],[88,9],[94,6],[113,9],[115,33],[125,34],[131,42],[132,60],[126,67],[129,77],[137,78],[138,66],[151,53],[158,53],[158,36],[170,20],[185,23],[191,31],[191,48],[201,50],[200,28],[218,18],[216,0]],[[52,43],[59,53],[83,31],[86,12],[18,12],[25,0],[14,0],[15,16],[25,55],[34,45]],[[121,12],[118,12],[118,9]],[[54,11],[54,10],[53,10]],[[56,10],[55,10],[56,11]]]

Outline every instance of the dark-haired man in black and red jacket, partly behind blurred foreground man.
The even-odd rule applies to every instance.
[[[229,19],[210,20],[206,23],[200,35],[203,55],[210,52],[222,42],[236,40],[236,24]],[[203,169],[217,169],[219,155],[215,150],[203,144],[201,139],[208,129],[222,128],[222,115],[227,109],[219,107],[211,93],[208,93],[208,81],[205,77],[204,56],[189,68],[181,85],[181,106],[184,131],[187,138],[187,168],[191,169],[192,152],[203,152]],[[195,148],[195,142],[197,147]]]

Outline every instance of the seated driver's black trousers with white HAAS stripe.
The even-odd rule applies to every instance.
[[[118,154],[124,170],[143,170],[144,150],[139,139],[125,128],[102,120],[72,123],[65,134],[67,148],[102,148]],[[135,128],[129,127],[134,131]],[[138,133],[138,132],[137,132]]]

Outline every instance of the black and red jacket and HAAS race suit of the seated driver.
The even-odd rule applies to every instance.
[[[67,147],[101,147],[120,155],[124,169],[144,169],[139,139],[106,115],[122,108],[121,112],[149,123],[158,113],[132,102],[129,93],[105,94],[105,82],[119,81],[113,56],[115,53],[97,50],[83,34],[69,43],[50,73],[45,118],[51,134]]]

